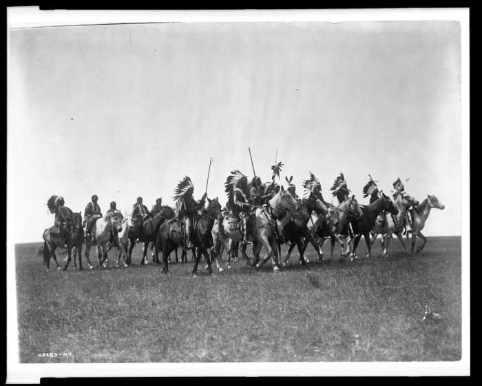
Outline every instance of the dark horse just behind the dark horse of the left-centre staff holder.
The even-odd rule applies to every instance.
[[[143,216],[141,214],[138,214],[138,216],[136,216],[136,221],[133,221],[132,227],[129,228],[130,247],[127,254],[129,262],[131,261],[132,250],[134,249],[134,245],[136,245],[137,239],[140,243],[144,243],[143,258],[140,261],[140,265],[148,264],[146,254],[149,243],[153,243],[154,245],[156,244],[160,225],[164,223],[165,220],[174,218],[175,215],[176,213],[174,212],[174,209],[172,209],[168,205],[164,205],[160,212],[147,217],[145,221],[143,221]],[[155,263],[159,264],[159,255],[155,248],[154,257]]]

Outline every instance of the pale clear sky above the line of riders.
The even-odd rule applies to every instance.
[[[343,172],[436,195],[426,236],[460,235],[461,30],[457,21],[155,23],[10,30],[8,205],[15,243],[41,241],[52,194],[226,201],[233,169],[263,181],[282,161],[297,192],[313,172],[331,201]],[[286,185],[286,183],[285,183]],[[336,199],[335,199],[336,200]],[[335,200],[333,201],[335,203]],[[25,227],[25,219],[30,226]]]

